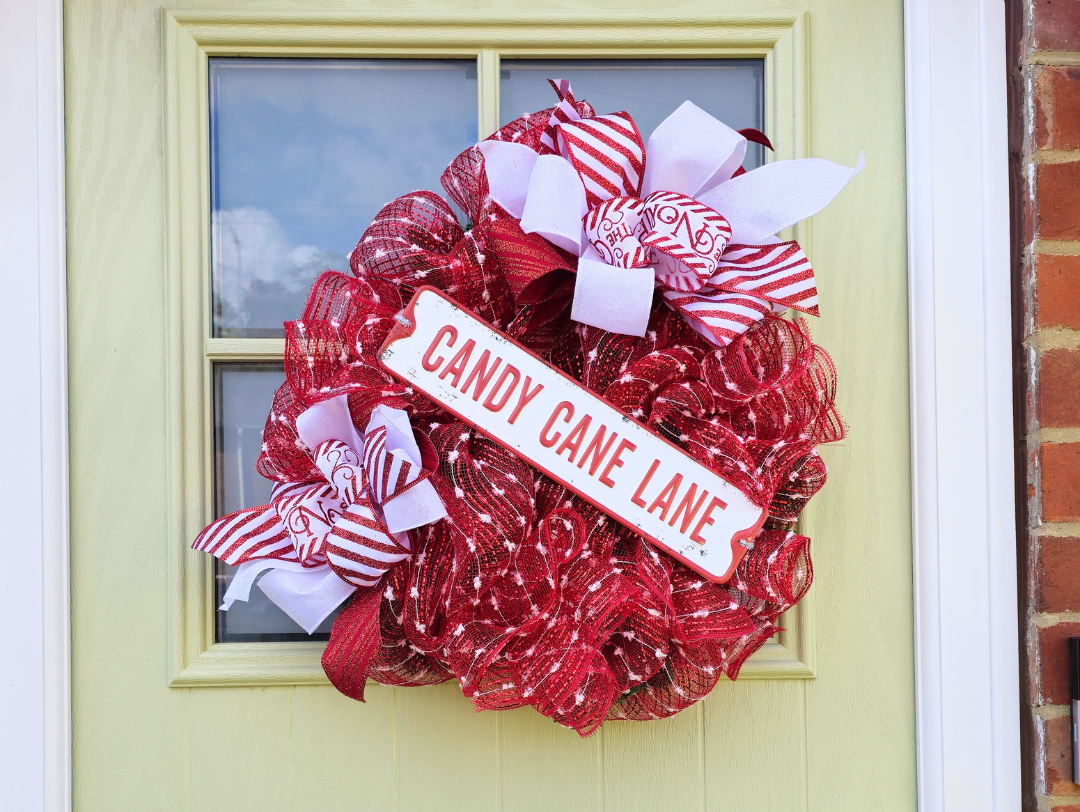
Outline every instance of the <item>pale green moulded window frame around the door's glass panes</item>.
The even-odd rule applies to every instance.
[[[500,59],[619,56],[645,58],[759,58],[765,66],[765,128],[778,159],[805,158],[809,59],[805,13],[768,17],[700,15],[674,18],[646,37],[642,18],[585,15],[564,28],[527,17],[500,19],[492,32],[483,16],[399,19],[357,16],[310,25],[307,14],[259,13],[237,18],[204,10],[165,10],[164,96],[166,165],[165,258],[166,435],[170,442],[166,539],[170,583],[170,685],[324,685],[324,642],[217,642],[213,560],[190,550],[213,517],[213,365],[280,363],[284,339],[212,338],[207,76],[215,56],[405,56],[468,58],[477,67],[481,137],[498,128]],[[392,27],[392,33],[390,33]],[[567,37],[567,30],[572,37]],[[612,43],[620,43],[612,50]],[[812,252],[808,224],[792,236]],[[811,503],[800,529],[814,536],[821,506]],[[783,631],[746,661],[740,679],[814,677],[815,592],[784,614]]]

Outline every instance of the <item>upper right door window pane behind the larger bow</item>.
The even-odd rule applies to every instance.
[[[551,107],[548,79],[569,79],[573,95],[600,116],[625,110],[646,143],[657,125],[689,99],[734,130],[765,126],[761,59],[503,59],[499,112],[507,124]],[[743,165],[761,165],[764,148],[748,145]]]

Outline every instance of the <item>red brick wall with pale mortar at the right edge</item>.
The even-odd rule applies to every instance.
[[[1009,0],[1025,810],[1080,812],[1080,0]]]

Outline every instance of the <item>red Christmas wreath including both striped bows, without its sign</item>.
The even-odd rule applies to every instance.
[[[193,546],[239,565],[222,608],[260,576],[309,632],[348,601],[323,667],[349,696],[368,678],[455,678],[480,710],[531,705],[588,735],[606,719],[671,716],[734,679],[810,586],[810,540],[794,527],[825,482],[814,448],[843,425],[828,355],[782,315],[816,314],[813,270],[775,234],[862,160],[744,172],[747,140],[768,139],[689,102],[646,149],[630,114],[597,116],[552,85],[557,106],[444,173],[469,226],[438,195],[406,194],[364,232],[351,275],[316,280],[285,325],[286,381],[257,463],[271,502],[219,518]],[[726,578],[388,371],[380,352],[429,287],[757,505]],[[471,375],[462,391],[478,396],[484,369]],[[650,512],[666,518],[674,499]]]

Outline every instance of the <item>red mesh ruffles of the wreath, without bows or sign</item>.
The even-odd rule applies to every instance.
[[[582,114],[591,111],[577,103]],[[492,138],[540,149],[552,110]],[[819,443],[839,439],[836,373],[801,321],[766,316],[723,349],[658,296],[645,337],[569,317],[572,258],[487,197],[474,147],[443,177],[473,224],[431,192],[388,204],[351,255],[286,325],[286,382],[258,471],[316,479],[296,418],[341,394],[357,427],[378,405],[404,409],[438,457],[448,512],[409,531],[413,555],[337,619],[324,658],[335,685],[422,686],[456,678],[477,709],[531,705],[586,735],[605,719],[659,719],[734,679],[807,592],[810,540],[793,531],[825,482]],[[432,285],[617,408],[768,505],[734,576],[714,584],[512,452],[382,371],[395,315]],[[374,615],[377,625],[356,619]],[[357,655],[365,648],[368,660]]]

